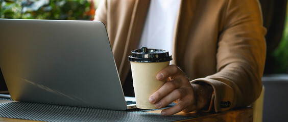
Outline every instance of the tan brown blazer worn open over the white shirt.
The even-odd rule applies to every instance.
[[[128,55],[137,48],[149,3],[105,0],[97,10],[95,20],[107,27],[121,81],[130,70]],[[247,106],[261,92],[265,34],[257,0],[182,0],[172,63],[191,82],[212,85],[216,112]]]

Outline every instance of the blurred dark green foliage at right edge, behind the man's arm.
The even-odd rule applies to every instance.
[[[279,46],[274,50],[273,56],[276,59],[275,73],[288,73],[288,9],[286,11],[285,27]]]

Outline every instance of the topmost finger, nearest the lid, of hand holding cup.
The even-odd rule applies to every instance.
[[[179,73],[184,74],[176,65],[170,65],[161,70],[157,74],[156,78],[157,80],[163,80],[169,78],[170,76],[177,76]]]

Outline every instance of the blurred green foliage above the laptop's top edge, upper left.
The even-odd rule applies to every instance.
[[[0,18],[92,20],[91,4],[87,0],[0,0]]]

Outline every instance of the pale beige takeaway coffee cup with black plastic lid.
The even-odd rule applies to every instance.
[[[158,81],[156,75],[167,67],[172,60],[168,51],[141,47],[131,51],[131,63],[136,106],[141,109],[155,109],[148,99],[166,80]]]

